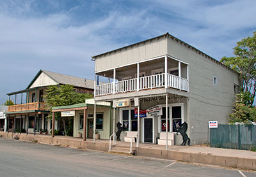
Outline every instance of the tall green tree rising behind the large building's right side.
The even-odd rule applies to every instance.
[[[223,57],[220,61],[240,75],[241,91],[252,93],[252,106],[256,94],[256,31],[252,37],[243,38],[234,47],[235,57]]]

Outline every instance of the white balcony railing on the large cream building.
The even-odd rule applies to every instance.
[[[115,82],[115,93],[132,92],[137,90],[137,78]],[[177,88],[188,91],[188,79],[167,74],[167,83],[164,82],[164,73],[139,78],[138,90],[149,88],[165,87]],[[114,83],[106,83],[95,86],[95,96],[105,96],[113,94]]]

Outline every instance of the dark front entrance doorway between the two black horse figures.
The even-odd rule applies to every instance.
[[[153,143],[153,118],[144,118],[143,124],[144,143]]]

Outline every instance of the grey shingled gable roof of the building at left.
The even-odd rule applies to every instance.
[[[40,71],[36,74],[35,78],[33,78],[31,83],[29,83],[27,89],[29,87],[31,87],[31,85],[34,83],[36,78],[38,78],[38,76],[40,76],[41,73],[46,74],[52,80],[56,81],[58,84],[69,84],[69,85],[73,85],[75,87],[94,89],[94,81],[93,80],[88,80],[86,78],[79,78],[76,76],[69,76],[66,74],[54,73],[51,71],[45,71],[43,69],[40,69]]]

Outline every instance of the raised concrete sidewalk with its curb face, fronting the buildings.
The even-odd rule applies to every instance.
[[[15,135],[24,141],[38,141],[38,143],[71,146],[102,152],[108,152],[109,150],[109,140],[104,139],[96,139],[95,143],[93,143],[93,139],[83,141],[81,138],[66,136],[55,136],[51,138],[51,136],[43,134],[36,134],[36,136],[33,134]],[[0,132],[0,136],[7,138],[7,133]],[[12,138],[12,133],[9,133],[8,138]],[[129,148],[130,143],[116,141],[116,146]],[[136,148],[136,143],[132,143],[132,148]],[[256,152],[248,150],[210,148],[207,146],[168,146],[168,150],[165,150],[165,146],[163,145],[140,143],[140,148],[136,148],[136,155],[256,171]]]

